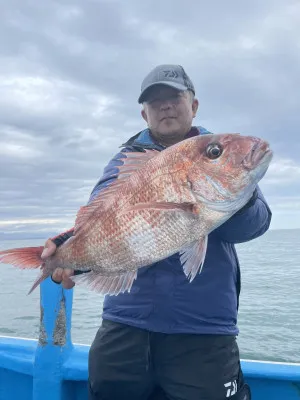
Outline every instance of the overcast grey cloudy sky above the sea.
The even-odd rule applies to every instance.
[[[299,0],[0,0],[0,20],[0,233],[73,226],[161,63],[193,80],[196,125],[269,140],[271,228],[300,227]]]

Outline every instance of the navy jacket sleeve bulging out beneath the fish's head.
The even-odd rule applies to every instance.
[[[262,236],[270,227],[272,212],[260,188],[228,221],[216,229],[216,234],[229,243],[243,243]]]

